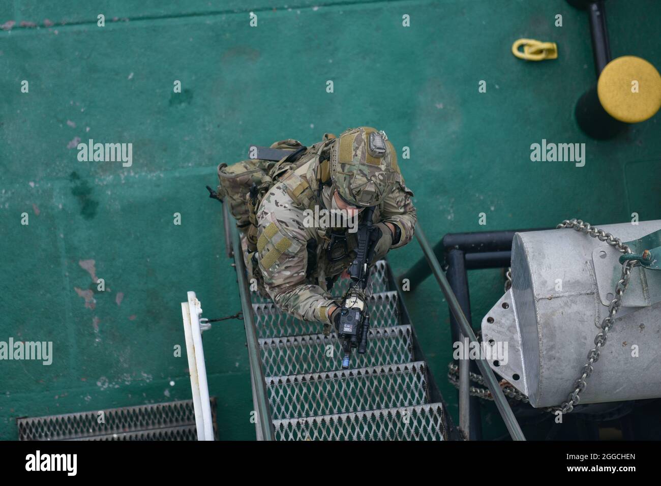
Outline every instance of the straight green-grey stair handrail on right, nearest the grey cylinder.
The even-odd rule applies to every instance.
[[[438,259],[436,258],[436,255],[434,255],[434,251],[432,251],[432,248],[430,247],[429,242],[424,235],[424,231],[422,231],[422,228],[420,227],[420,223],[416,225],[415,236],[418,240],[418,243],[420,243],[422,253],[424,253],[424,257],[427,259],[427,263],[432,268],[432,272],[436,277],[438,285],[443,291],[443,294],[446,296],[447,305],[449,305],[450,311],[455,316],[455,319],[457,319],[459,327],[461,327],[461,333],[468,337],[471,344],[477,343],[477,338],[475,337],[475,333],[473,333],[473,328],[461,310],[461,305],[459,305],[459,302],[457,302],[457,298],[454,292],[452,292],[450,284],[447,282],[446,274],[444,274],[443,270],[441,270],[441,265],[438,263]],[[475,362],[477,362],[477,367],[485,379],[486,386],[491,392],[492,397],[494,397],[494,402],[496,403],[500,417],[502,417],[503,421],[505,422],[505,426],[510,432],[510,436],[512,436],[512,439],[514,440],[525,440],[524,432],[522,432],[519,423],[516,421],[514,412],[512,412],[510,404],[508,403],[504,393],[502,393],[502,389],[498,384],[498,380],[496,380],[496,375],[494,374],[493,370],[490,368],[484,358],[475,360]]]

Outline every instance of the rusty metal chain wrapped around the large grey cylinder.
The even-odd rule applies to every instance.
[[[611,235],[611,233],[606,233],[605,231],[603,231],[603,229],[598,229],[596,227],[593,227],[592,225],[590,225],[590,223],[585,223],[582,220],[576,220],[576,219],[564,220],[562,223],[557,225],[556,228],[557,229],[574,228],[576,231],[581,231],[586,235],[589,235],[593,238],[597,238],[599,241],[604,241],[608,245],[611,245],[611,247],[617,248],[622,253],[632,253],[629,246],[622,243],[622,241],[619,238],[614,237],[613,235]],[[622,264],[622,273],[620,279],[618,280],[617,284],[615,284],[615,298],[611,300],[608,306],[608,315],[603,319],[600,325],[600,329],[601,329],[600,333],[598,333],[598,335],[596,335],[596,337],[594,338],[595,346],[590,350],[590,352],[588,352],[588,362],[583,366],[581,376],[579,376],[576,382],[574,382],[574,391],[569,393],[569,395],[567,396],[567,400],[564,401],[564,403],[560,407],[547,407],[545,408],[546,411],[549,412],[561,411],[562,413],[570,413],[574,409],[574,405],[577,405],[578,402],[580,401],[580,393],[585,389],[587,385],[586,380],[594,371],[593,365],[599,360],[601,350],[603,346],[605,346],[606,344],[606,336],[608,334],[608,331],[611,329],[611,327],[613,327],[613,324],[615,323],[615,315],[622,306],[622,297],[624,291],[627,289],[627,285],[629,285],[629,279],[631,278],[631,270],[633,269],[633,267],[637,266],[638,264],[639,264],[638,260],[627,260],[625,261],[625,263]],[[512,281],[511,270],[512,269],[509,268],[508,273],[506,274],[508,280],[508,282],[506,282],[506,286],[508,283]],[[455,385],[455,387],[458,388],[459,366],[451,362],[448,365],[448,368],[449,371],[447,372],[447,379],[451,384]],[[480,385],[485,385],[484,378],[482,378],[482,376],[478,374],[470,373],[470,378],[471,380],[473,380],[473,382],[476,382]],[[486,388],[471,386],[469,390],[472,396],[480,397],[486,400],[493,400],[491,392]],[[518,389],[514,388],[510,384],[507,384],[504,387],[502,387],[502,391],[508,397],[520,400],[524,403],[527,403],[528,401],[527,397],[523,393],[518,391]]]

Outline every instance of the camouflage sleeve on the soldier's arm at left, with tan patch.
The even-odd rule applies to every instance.
[[[327,309],[335,304],[331,294],[305,280],[307,231],[303,211],[294,208],[278,187],[260,204],[258,260],[266,291],[286,313],[305,321],[329,323]]]

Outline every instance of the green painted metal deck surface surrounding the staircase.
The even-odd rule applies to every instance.
[[[0,438],[17,438],[17,417],[190,398],[185,353],[173,356],[186,291],[206,317],[240,309],[221,206],[204,186],[249,143],[385,130],[410,147],[400,165],[432,240],[570,217],[661,218],[659,115],[610,142],[578,130],[592,50],[586,14],[562,0],[163,4],[0,3],[0,341],[54,343],[50,366],[0,361]],[[613,56],[661,67],[661,4],[611,0],[607,13]],[[514,58],[520,37],[557,42],[559,59]],[[79,162],[76,138],[133,143],[133,165]],[[586,143],[585,167],[531,162],[543,138]],[[420,256],[412,243],[389,258],[401,273]],[[502,275],[473,272],[470,283],[477,323]],[[407,305],[455,413],[447,306],[433,279]],[[221,438],[254,438],[242,324],[215,324],[204,344]],[[486,411],[496,436],[497,413]]]

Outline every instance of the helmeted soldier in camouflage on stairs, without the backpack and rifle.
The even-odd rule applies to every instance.
[[[256,212],[256,260],[268,295],[283,311],[323,323],[329,333],[340,307],[332,284],[355,256],[352,223],[363,208],[375,206],[372,220],[381,236],[373,262],[381,259],[413,236],[412,196],[384,132],[360,127],[339,138],[325,135],[270,188]],[[323,219],[311,224],[315,210],[334,210],[343,219],[331,220],[336,227]],[[250,272],[254,261],[247,260]]]

